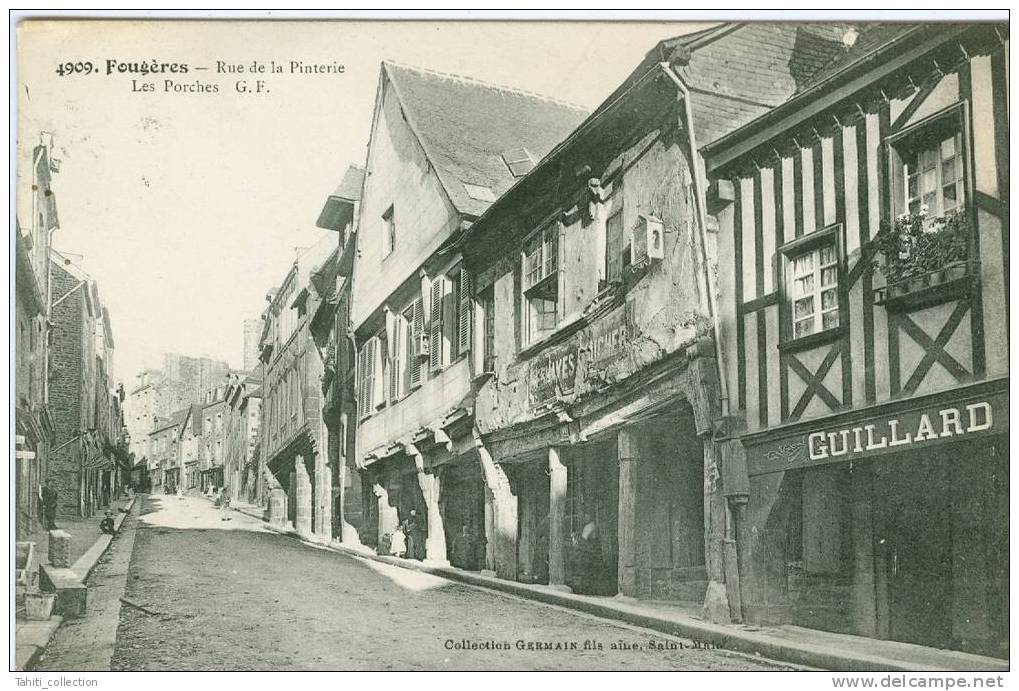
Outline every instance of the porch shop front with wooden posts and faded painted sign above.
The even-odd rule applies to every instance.
[[[708,400],[713,362],[692,350],[606,384],[606,364],[628,356],[625,339],[599,347],[605,330],[532,359],[531,420],[485,437],[517,500],[517,578],[699,606],[710,426],[692,402]]]

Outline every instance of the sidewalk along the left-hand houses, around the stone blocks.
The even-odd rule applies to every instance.
[[[137,497],[132,497],[115,499],[111,502],[110,511],[114,513],[114,525],[118,531],[127,515],[117,510],[123,508],[130,512],[136,500]],[[103,520],[105,511],[91,518],[74,517],[57,520],[57,528],[70,533],[71,564],[74,565],[74,571],[81,574],[83,581],[88,578],[93,567],[113,540],[113,536],[99,532],[99,523]],[[49,563],[49,531],[38,530],[25,539],[36,542],[34,570],[37,572],[35,583],[38,584],[39,567]],[[30,622],[24,617],[24,604],[19,602],[14,618],[14,669],[31,670],[40,655],[46,651],[46,646],[62,623],[63,619],[55,615],[45,622]]]

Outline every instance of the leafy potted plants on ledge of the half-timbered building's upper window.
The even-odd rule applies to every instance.
[[[944,302],[968,287],[975,275],[969,259],[972,227],[965,210],[931,216],[925,207],[881,222],[875,238],[887,284],[877,304],[921,307]]]

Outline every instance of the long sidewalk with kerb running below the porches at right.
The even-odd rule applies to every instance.
[[[261,508],[234,504],[248,516],[263,519]],[[292,530],[270,529],[298,537]],[[308,544],[317,543],[303,540]],[[911,643],[877,640],[862,636],[828,633],[796,626],[751,627],[711,624],[687,607],[624,597],[597,597],[562,592],[542,585],[506,581],[499,578],[454,569],[431,567],[415,560],[380,556],[370,547],[332,542],[334,551],[370,559],[384,564],[441,576],[451,581],[498,590],[546,604],[577,609],[603,619],[625,622],[653,631],[690,638],[701,643],[759,654],[771,659],[811,668],[844,672],[949,672],[994,671],[1009,669],[1006,659],[985,657],[955,650],[940,650]]]

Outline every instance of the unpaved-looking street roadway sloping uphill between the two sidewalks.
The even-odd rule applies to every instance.
[[[105,652],[112,670],[784,669],[317,549],[202,497],[143,498],[113,544],[131,540],[125,573],[118,566],[125,559],[116,559],[123,548],[112,549],[90,580],[106,600],[123,588],[112,659]],[[95,628],[93,644],[103,650],[100,639],[113,627],[108,634]],[[39,669],[64,669],[81,655],[77,638],[58,632]],[[602,649],[585,650],[585,641]],[[498,649],[451,649],[464,642]],[[611,649],[621,642],[633,647]]]

